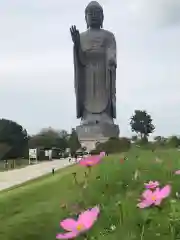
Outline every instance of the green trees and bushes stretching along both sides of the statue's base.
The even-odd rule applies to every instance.
[[[131,138],[110,138],[105,143],[97,144],[92,153],[127,151],[133,144],[148,147],[178,147],[180,145],[180,138],[177,136],[169,138],[156,136],[154,141],[148,141],[149,135],[155,130],[155,125],[151,115],[145,110],[135,110],[129,124],[134,133]],[[59,148],[62,152],[69,148],[73,155],[80,147],[74,128],[71,133],[66,130],[46,128],[35,135],[29,135],[20,124],[12,120],[0,119],[0,159],[27,158],[29,148]]]

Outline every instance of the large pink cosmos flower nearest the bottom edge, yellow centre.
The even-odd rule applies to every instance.
[[[92,209],[82,212],[77,220],[67,218],[61,221],[60,226],[68,232],[57,234],[56,239],[71,239],[88,231],[97,220],[99,212],[99,207],[96,206]]]

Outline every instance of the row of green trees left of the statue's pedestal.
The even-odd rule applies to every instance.
[[[62,152],[69,148],[74,154],[80,146],[75,129],[68,133],[65,130],[46,128],[35,135],[29,135],[20,124],[0,119],[0,160],[28,158],[29,148],[58,148]]]

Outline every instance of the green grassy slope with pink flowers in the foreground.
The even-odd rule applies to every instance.
[[[180,152],[131,150],[128,160],[109,156],[93,167],[88,187],[83,189],[84,171],[76,165],[46,178],[0,192],[0,239],[54,240],[63,218],[100,205],[100,215],[88,239],[175,240],[180,239]],[[158,157],[162,162],[156,162]],[[133,179],[139,171],[137,179]],[[77,173],[79,185],[73,181]],[[133,180],[132,180],[133,179]],[[161,208],[136,207],[144,182],[158,180],[172,185],[172,193]],[[78,239],[84,239],[83,236]]]

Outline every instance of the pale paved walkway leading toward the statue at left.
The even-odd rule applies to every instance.
[[[24,183],[28,180],[38,178],[47,173],[51,173],[52,168],[55,170],[65,168],[72,165],[68,159],[53,160],[51,162],[43,162],[35,165],[29,165],[25,168],[14,169],[6,172],[0,172],[0,190],[13,187]]]

